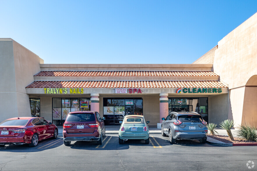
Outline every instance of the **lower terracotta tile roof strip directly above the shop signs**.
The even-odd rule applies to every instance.
[[[219,81],[34,81],[26,88],[227,88]]]

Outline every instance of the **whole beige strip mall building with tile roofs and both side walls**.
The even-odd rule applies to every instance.
[[[0,121],[40,116],[62,124],[71,111],[98,111],[105,124],[170,111],[194,111],[219,124],[257,125],[257,13],[193,64],[44,64],[10,38],[0,39]]]

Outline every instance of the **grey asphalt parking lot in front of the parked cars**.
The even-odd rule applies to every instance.
[[[1,170],[249,170],[257,162],[257,147],[219,147],[198,140],[170,144],[168,137],[150,134],[150,143],[128,140],[118,143],[117,134],[107,134],[103,144],[72,142],[62,136],[43,140],[36,147],[0,147]],[[253,168],[252,170],[256,170]]]

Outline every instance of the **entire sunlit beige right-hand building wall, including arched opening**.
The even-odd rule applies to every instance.
[[[194,63],[213,60],[211,55],[201,58]],[[257,126],[256,66],[257,13],[220,40],[214,52],[213,71],[229,87],[228,118],[235,120],[235,126],[241,123]]]

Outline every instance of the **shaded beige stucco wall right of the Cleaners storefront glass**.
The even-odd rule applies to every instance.
[[[219,125],[220,122],[228,119],[228,94],[210,96],[208,106],[209,123]]]

